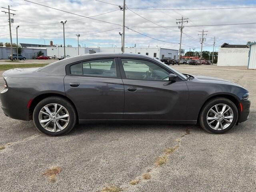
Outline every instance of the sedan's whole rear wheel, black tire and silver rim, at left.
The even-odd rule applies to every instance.
[[[68,100],[61,97],[48,97],[36,105],[33,120],[40,132],[60,136],[74,128],[76,112]]]

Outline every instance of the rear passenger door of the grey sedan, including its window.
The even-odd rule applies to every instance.
[[[79,120],[122,119],[124,85],[115,58],[84,60],[66,66],[66,96]]]

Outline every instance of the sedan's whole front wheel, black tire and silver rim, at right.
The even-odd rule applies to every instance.
[[[232,129],[238,119],[236,105],[226,98],[207,102],[199,116],[200,126],[209,133],[222,134]]]

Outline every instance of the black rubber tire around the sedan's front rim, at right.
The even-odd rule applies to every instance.
[[[230,106],[230,108],[232,109],[233,111],[233,120],[232,120],[232,123],[225,129],[223,130],[214,130],[213,128],[211,128],[208,123],[207,123],[207,113],[208,111],[215,105],[217,104],[226,104],[228,106]],[[237,119],[238,119],[238,109],[236,107],[236,105],[229,99],[227,98],[222,98],[222,97],[219,97],[219,98],[214,98],[210,101],[208,101],[206,104],[204,104],[201,112],[200,112],[200,115],[199,115],[199,123],[200,123],[200,126],[206,130],[207,132],[211,133],[211,134],[223,134],[223,133],[226,133],[228,130],[232,129],[236,122],[237,122]]]

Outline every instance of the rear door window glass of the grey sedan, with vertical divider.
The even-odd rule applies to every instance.
[[[85,61],[70,66],[70,73],[97,77],[116,77],[116,64],[114,59]]]

